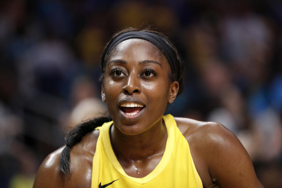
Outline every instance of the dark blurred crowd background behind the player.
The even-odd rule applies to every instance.
[[[167,113],[220,122],[265,187],[282,186],[282,1],[0,1],[0,187],[32,187],[81,120],[106,113],[100,55],[110,36],[150,24],[185,64]]]

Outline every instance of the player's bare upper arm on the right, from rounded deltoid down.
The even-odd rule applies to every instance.
[[[220,187],[262,187],[238,138],[219,123],[212,123],[208,129],[206,161],[212,179]]]

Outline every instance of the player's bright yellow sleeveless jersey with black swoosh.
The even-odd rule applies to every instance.
[[[161,161],[145,177],[130,177],[118,162],[110,142],[113,121],[97,127],[100,131],[93,157],[91,188],[190,187],[203,188],[187,140],[172,115],[163,116],[167,142]]]

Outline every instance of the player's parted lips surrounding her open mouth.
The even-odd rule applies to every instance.
[[[143,109],[142,110],[140,110],[140,112],[138,112],[137,114],[135,114],[135,115],[127,115],[124,111],[122,111],[121,110],[121,108],[120,108],[120,105],[122,105],[122,104],[124,104],[124,103],[137,103],[137,104],[140,104],[140,105],[143,105],[144,107],[143,107]],[[121,116],[125,119],[125,120],[127,120],[127,121],[135,121],[135,120],[137,120],[138,118],[140,118],[141,116],[142,116],[142,114],[144,113],[144,110],[145,110],[145,108],[146,108],[146,105],[145,105],[145,103],[144,102],[142,102],[140,99],[138,99],[138,98],[129,98],[129,97],[127,97],[127,98],[123,98],[123,99],[121,99],[119,102],[118,102],[118,108],[119,108],[119,110],[120,110],[120,114],[121,114]]]

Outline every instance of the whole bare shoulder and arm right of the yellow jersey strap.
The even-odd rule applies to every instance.
[[[216,122],[175,117],[205,187],[262,187],[238,138]]]

